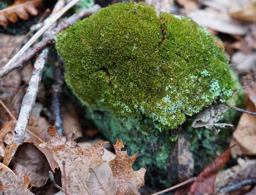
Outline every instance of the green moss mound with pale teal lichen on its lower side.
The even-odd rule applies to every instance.
[[[188,116],[236,88],[222,42],[145,3],[102,8],[56,36],[65,79],[103,134],[165,169]]]

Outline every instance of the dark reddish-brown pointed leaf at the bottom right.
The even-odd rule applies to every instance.
[[[219,169],[221,169],[229,160],[230,150],[232,147],[223,152],[221,156],[218,156],[196,177],[196,180],[190,188],[191,195],[215,193],[214,181],[217,177]]]

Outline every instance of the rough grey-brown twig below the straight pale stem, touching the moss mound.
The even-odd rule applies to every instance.
[[[47,45],[52,43],[53,38],[57,33],[60,33],[64,29],[68,28],[72,24],[74,24],[79,19],[82,19],[86,16],[89,16],[95,12],[97,12],[101,7],[98,4],[95,4],[93,7],[90,7],[88,9],[82,10],[76,14],[73,14],[70,16],[67,20],[61,22],[56,28],[54,28],[52,31],[47,31],[45,33],[45,37],[42,39],[42,41],[38,42],[33,46],[33,48],[30,51],[27,51],[25,54],[20,56],[14,63],[12,63],[10,66],[3,68],[0,70],[0,79],[5,76],[6,74],[12,72],[13,70],[21,67],[26,61],[30,60],[35,54],[37,54],[39,51],[44,49]]]

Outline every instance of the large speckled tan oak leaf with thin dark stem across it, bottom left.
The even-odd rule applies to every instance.
[[[69,194],[91,194],[86,186],[90,178],[89,171],[105,162],[101,158],[104,153],[103,146],[108,142],[98,141],[85,149],[76,144],[73,139],[60,136],[54,126],[48,128],[48,133],[50,140],[39,146],[50,150],[53,159],[59,164],[62,186],[64,186],[64,161],[67,192]]]

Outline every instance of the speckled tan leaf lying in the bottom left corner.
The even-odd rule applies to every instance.
[[[11,171],[0,171],[0,180],[3,184],[4,194],[33,194],[27,189],[29,176],[26,173],[15,175]]]

